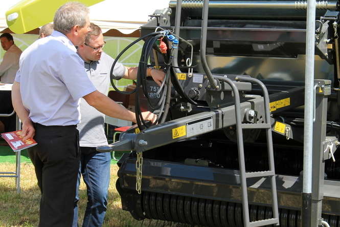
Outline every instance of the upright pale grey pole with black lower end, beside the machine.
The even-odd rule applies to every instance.
[[[312,141],[313,141],[313,88],[314,88],[314,48],[315,48],[315,1],[308,1],[306,29],[306,68],[305,68],[305,123],[303,154],[303,204],[309,204],[302,211],[302,220],[309,224],[312,192]],[[307,211],[307,212],[306,212]],[[316,217],[315,217],[316,218]]]

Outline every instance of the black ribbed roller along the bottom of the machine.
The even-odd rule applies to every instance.
[[[197,199],[152,192],[143,192],[140,197],[143,203],[144,214],[140,219],[155,219],[171,221],[182,224],[199,226],[244,226],[242,220],[242,204],[225,202],[210,199]],[[143,202],[142,202],[143,201]],[[156,208],[154,207],[156,206]],[[252,226],[260,226],[262,223],[273,226],[276,221],[273,219],[271,208],[260,205],[250,205],[250,219]],[[297,210],[280,209],[280,226],[298,227],[301,226],[301,213]],[[331,226],[338,226],[339,216],[323,214],[324,220]],[[182,224],[180,224],[182,223]],[[164,225],[163,225],[164,226]]]

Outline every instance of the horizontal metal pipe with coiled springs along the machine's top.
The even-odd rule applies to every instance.
[[[176,5],[175,0],[170,1],[169,7],[173,8]],[[336,2],[318,1],[316,9],[320,10],[336,10]],[[183,9],[201,9],[203,1],[185,0],[182,4]],[[242,9],[298,9],[306,10],[307,1],[296,2],[250,2],[250,1],[210,1],[209,8],[242,8]]]

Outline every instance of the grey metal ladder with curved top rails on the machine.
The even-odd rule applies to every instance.
[[[278,198],[276,191],[276,180],[275,180],[275,167],[274,167],[274,152],[273,152],[273,139],[271,137],[271,125],[270,125],[270,111],[269,111],[269,95],[264,84],[255,78],[251,77],[236,77],[235,80],[252,82],[260,86],[263,91],[264,96],[264,111],[265,118],[264,123],[242,123],[241,121],[241,109],[240,109],[240,97],[237,87],[234,82],[229,79],[220,78],[219,79],[227,82],[234,92],[235,98],[235,113],[236,113],[236,130],[237,130],[237,143],[238,143],[238,153],[239,153],[239,165],[240,165],[240,176],[241,176],[241,189],[242,189],[242,207],[243,207],[243,224],[245,227],[255,227],[263,225],[279,225],[279,209],[278,209]],[[259,171],[259,172],[245,172],[245,162],[244,162],[244,149],[243,149],[243,134],[242,129],[266,129],[267,134],[267,147],[268,147],[268,159],[269,159],[269,170]],[[270,177],[271,183],[271,195],[272,195],[272,207],[273,207],[273,218],[263,219],[258,221],[250,221],[249,218],[249,204],[247,195],[247,178],[254,177]]]

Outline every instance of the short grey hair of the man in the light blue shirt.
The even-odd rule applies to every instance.
[[[62,5],[54,15],[54,30],[67,34],[71,29],[79,25],[83,28],[86,25],[89,10],[78,2],[70,2]]]

